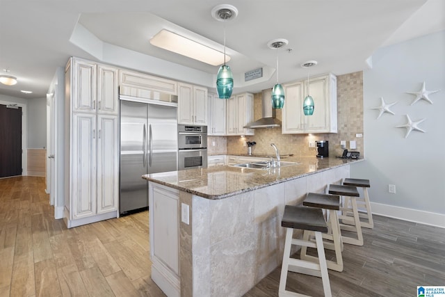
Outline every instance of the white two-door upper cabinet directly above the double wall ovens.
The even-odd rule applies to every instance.
[[[178,124],[207,126],[207,88],[178,83]]]

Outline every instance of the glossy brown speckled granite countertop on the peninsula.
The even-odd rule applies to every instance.
[[[299,164],[269,170],[218,166],[152,173],[143,175],[143,178],[150,182],[176,188],[179,191],[216,200],[356,163],[363,159],[320,159],[315,156],[289,156],[286,161]]]

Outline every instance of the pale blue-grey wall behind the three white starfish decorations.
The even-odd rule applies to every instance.
[[[351,177],[371,179],[370,199],[382,214],[445,227],[445,31],[379,49],[364,71],[366,161],[351,166]],[[433,104],[413,105],[423,81]],[[391,106],[378,120],[380,97]],[[426,133],[396,126],[411,120]],[[396,185],[396,193],[388,192]],[[383,205],[385,204],[385,205]]]

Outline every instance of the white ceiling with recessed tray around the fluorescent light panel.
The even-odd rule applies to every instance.
[[[223,3],[238,9],[235,19],[213,19],[211,9]],[[235,93],[271,88],[277,55],[281,83],[307,77],[300,64],[308,60],[318,61],[311,76],[346,74],[369,68],[379,47],[445,29],[442,0],[0,0],[0,7],[0,74],[8,69],[18,79],[0,94],[28,99],[46,97],[70,56],[214,88],[218,67],[149,44],[161,29],[221,51],[225,30]],[[289,44],[269,49],[276,38]],[[261,79],[244,81],[258,68]]]

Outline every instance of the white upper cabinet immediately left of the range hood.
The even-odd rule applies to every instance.
[[[242,93],[227,100],[227,134],[254,135],[254,129],[244,128],[253,121],[253,95]]]

